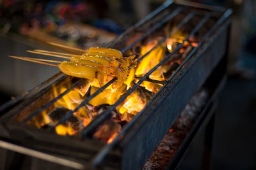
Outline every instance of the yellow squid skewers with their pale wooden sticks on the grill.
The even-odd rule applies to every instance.
[[[63,46],[55,43],[51,44],[56,46]],[[133,60],[135,57],[134,55],[130,57],[123,57],[120,51],[112,48],[92,47],[88,50],[81,50],[78,48],[75,49],[83,51],[83,55],[49,52],[45,50],[28,50],[28,52],[31,53],[61,57],[63,59],[70,60],[64,60],[63,62],[56,60],[35,59],[30,57],[10,57],[13,57],[15,59],[28,60],[31,62],[37,62],[40,64],[46,64],[49,66],[56,66],[59,67],[59,69],[63,73],[70,76],[86,79],[96,78],[99,81],[100,87],[104,84],[106,80],[109,80],[113,77],[117,78],[117,81],[113,83],[113,88],[118,88],[123,83],[127,84],[128,87],[131,85],[131,81],[134,77],[134,66],[136,66],[136,61]],[[59,64],[51,64],[49,62],[56,62]]]

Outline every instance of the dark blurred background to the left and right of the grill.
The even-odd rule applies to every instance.
[[[161,5],[163,0],[0,0],[0,104],[58,73],[15,60],[46,41],[79,48],[101,46]],[[228,81],[216,115],[212,169],[256,168],[256,1],[195,0],[232,8]],[[60,49],[57,49],[61,52]],[[63,50],[63,49],[62,49]],[[64,50],[65,51],[65,50]],[[66,50],[67,52],[68,50]],[[193,164],[191,164],[193,169]]]

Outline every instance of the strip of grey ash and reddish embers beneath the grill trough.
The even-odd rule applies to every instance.
[[[182,141],[193,127],[208,97],[209,92],[202,89],[190,99],[179,118],[172,125],[172,129],[167,132],[142,169],[165,169],[168,166]]]

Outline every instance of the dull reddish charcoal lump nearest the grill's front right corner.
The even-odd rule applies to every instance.
[[[121,131],[121,125],[114,120],[109,120],[108,123],[100,127],[93,136],[97,139],[108,142],[109,139],[113,138],[119,131]]]

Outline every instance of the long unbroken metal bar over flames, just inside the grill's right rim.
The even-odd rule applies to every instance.
[[[111,111],[113,111],[116,106],[118,106],[120,103],[122,103],[122,101],[124,101],[124,99],[126,97],[128,97],[137,87],[140,86],[140,84],[146,79],[148,78],[148,76],[150,74],[152,74],[159,66],[161,66],[166,60],[168,60],[173,53],[177,52],[177,50],[179,50],[179,48],[184,44],[185,41],[187,41],[189,39],[189,37],[193,34],[195,34],[195,32],[197,32],[200,27],[202,27],[202,25],[204,25],[204,23],[211,17],[211,15],[206,15],[198,25],[196,25],[195,29],[193,29],[193,31],[191,31],[191,33],[186,37],[186,39],[184,39],[184,41],[182,43],[180,43],[174,50],[172,53],[169,53],[163,60],[161,60],[161,62],[159,62],[156,66],[154,66],[152,69],[150,69],[150,71],[148,71],[148,73],[146,73],[132,88],[130,88],[127,92],[125,92],[124,95],[122,95],[118,101],[116,101],[116,103],[112,104],[111,107],[109,108],[109,110],[107,110],[106,112],[100,114],[98,116],[97,119],[93,120],[81,133],[82,133],[82,137],[84,138],[85,136],[88,136],[90,134],[90,132],[93,131],[93,129],[96,129],[99,124],[101,124],[102,122],[104,122],[104,120],[106,120],[106,118],[108,118],[109,114],[111,113]]]

